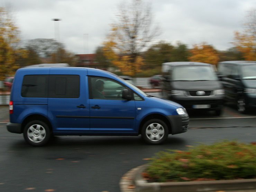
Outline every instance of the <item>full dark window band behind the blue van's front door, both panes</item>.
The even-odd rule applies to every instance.
[[[32,98],[79,98],[79,75],[26,75],[21,96]]]

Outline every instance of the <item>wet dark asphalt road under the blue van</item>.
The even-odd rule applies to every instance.
[[[256,141],[256,112],[240,115],[226,106],[220,117],[190,112],[190,119],[190,129],[164,145],[146,145],[140,137],[64,136],[36,148],[6,130],[8,107],[0,107],[0,191],[119,192],[122,175],[160,150]]]

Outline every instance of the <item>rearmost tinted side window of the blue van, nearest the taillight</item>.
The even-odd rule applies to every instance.
[[[46,98],[48,95],[48,75],[25,75],[22,82],[22,97]]]

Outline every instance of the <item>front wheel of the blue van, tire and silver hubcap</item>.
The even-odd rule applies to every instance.
[[[160,119],[150,119],[143,125],[141,137],[148,144],[162,144],[168,137],[168,127]]]

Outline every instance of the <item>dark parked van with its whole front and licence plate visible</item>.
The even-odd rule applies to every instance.
[[[219,116],[224,90],[216,67],[199,62],[163,63],[163,97],[186,109],[213,110]]]

